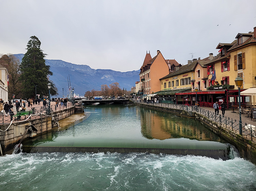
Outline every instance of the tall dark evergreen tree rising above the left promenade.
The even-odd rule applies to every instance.
[[[49,81],[48,75],[53,75],[50,66],[45,65],[44,57],[40,49],[41,42],[36,36],[31,36],[27,45],[27,52],[20,64],[20,80],[22,81],[22,93],[24,98],[35,98],[35,86],[37,94],[48,95],[47,84],[51,83],[51,95],[57,94],[57,88]]]

